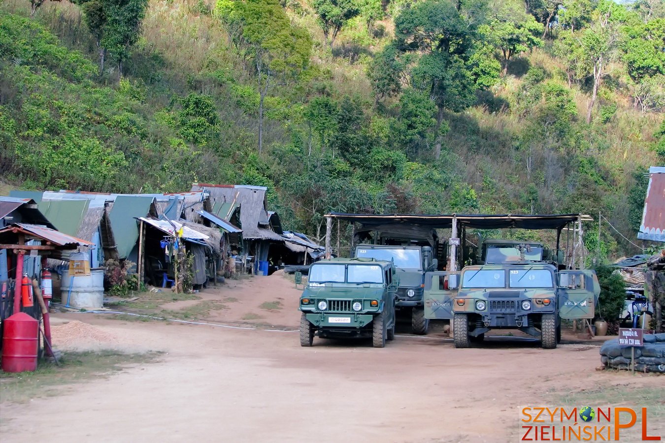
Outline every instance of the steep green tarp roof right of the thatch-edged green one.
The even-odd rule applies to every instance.
[[[118,257],[127,258],[138,240],[138,224],[134,217],[146,217],[154,197],[118,195],[108,215],[118,245]]]

